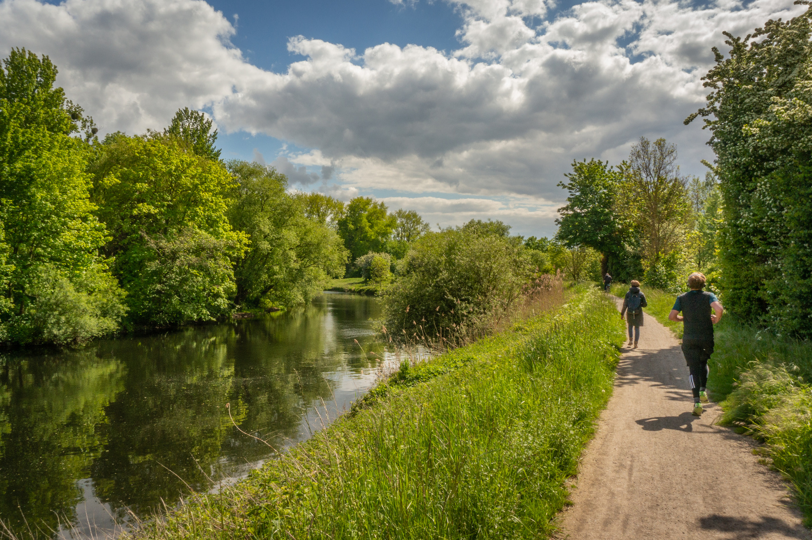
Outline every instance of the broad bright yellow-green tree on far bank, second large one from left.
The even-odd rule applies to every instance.
[[[231,259],[247,238],[227,210],[235,180],[221,162],[174,137],[106,137],[91,166],[104,251],[127,290],[130,319],[166,326],[213,320],[230,310]]]

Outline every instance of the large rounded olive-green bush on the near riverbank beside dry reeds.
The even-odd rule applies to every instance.
[[[472,220],[417,240],[384,295],[389,331],[475,332],[508,309],[533,278],[525,249],[508,231],[501,222]]]

